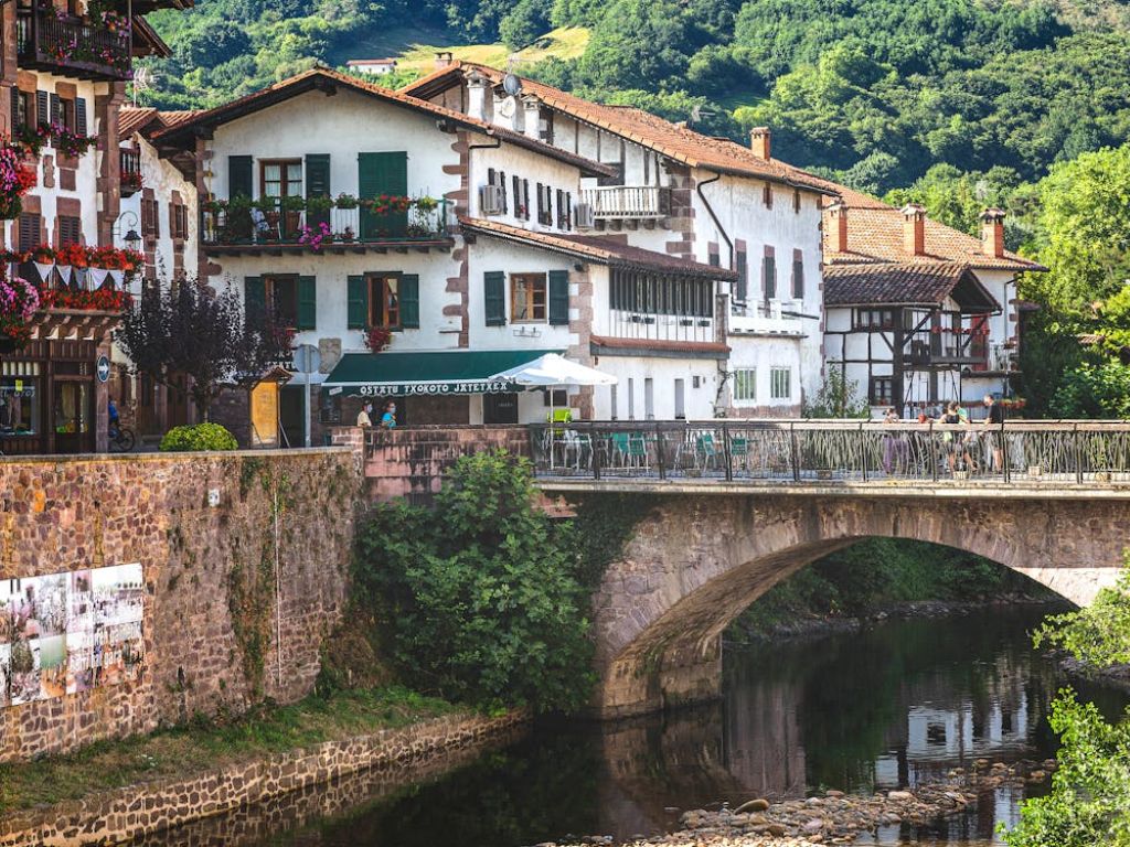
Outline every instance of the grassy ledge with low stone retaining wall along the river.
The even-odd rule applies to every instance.
[[[8,765],[0,768],[0,847],[137,839],[364,769],[484,745],[525,719],[393,687]]]

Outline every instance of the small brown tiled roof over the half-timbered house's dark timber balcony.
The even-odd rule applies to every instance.
[[[825,306],[937,306],[949,296],[970,311],[999,311],[967,264],[885,263],[824,269]]]

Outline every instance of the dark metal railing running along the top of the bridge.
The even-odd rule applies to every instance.
[[[539,477],[757,483],[1130,483],[1130,422],[860,420],[533,425]]]

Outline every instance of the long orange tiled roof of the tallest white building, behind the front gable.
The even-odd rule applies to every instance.
[[[400,90],[426,98],[461,84],[464,75],[470,71],[477,71],[495,85],[501,84],[505,76],[503,71],[485,64],[457,60]],[[831,183],[827,180],[779,159],[759,158],[751,149],[736,141],[703,136],[640,108],[590,103],[553,86],[525,78],[522,78],[522,91],[532,94],[550,108],[635,141],[692,167],[738,176],[755,176],[819,193],[835,193],[828,187]]]

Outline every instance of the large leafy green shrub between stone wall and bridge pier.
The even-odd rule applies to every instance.
[[[359,536],[358,602],[381,610],[401,678],[446,699],[570,711],[592,684],[588,597],[568,532],[533,505],[530,464],[459,460],[434,510],[379,507]]]

